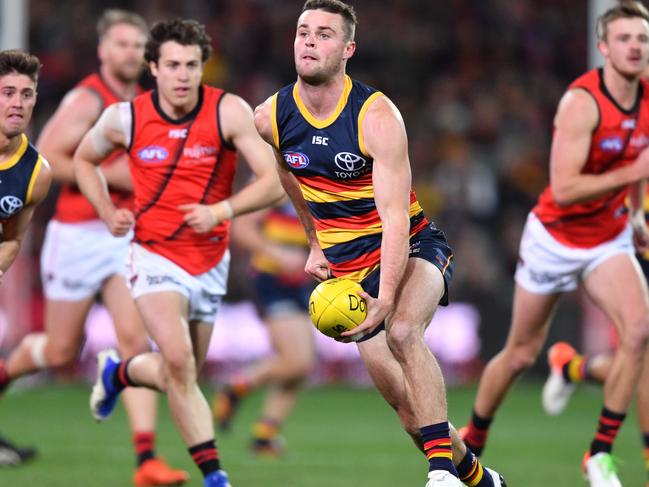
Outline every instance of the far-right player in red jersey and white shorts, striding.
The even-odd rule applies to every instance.
[[[634,236],[641,247],[649,243],[642,207],[649,176],[649,84],[640,79],[649,59],[649,13],[639,2],[622,2],[597,27],[604,66],[574,81],[559,103],[550,185],[521,239],[509,337],[487,365],[463,433],[474,451],[484,447],[514,379],[543,346],[557,299],[581,283],[620,335],[584,468],[591,485],[618,486],[610,452],[649,337],[649,296],[632,242]]]

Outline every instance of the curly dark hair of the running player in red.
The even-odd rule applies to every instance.
[[[199,46],[203,62],[212,54],[212,38],[205,32],[203,24],[191,19],[173,19],[153,24],[144,59],[157,63],[160,58],[160,46],[168,41],[177,42],[181,46]]]

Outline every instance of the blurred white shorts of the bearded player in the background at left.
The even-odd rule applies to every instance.
[[[94,296],[114,274],[126,275],[132,234],[113,237],[101,220],[47,225],[41,279],[47,299],[81,301]]]

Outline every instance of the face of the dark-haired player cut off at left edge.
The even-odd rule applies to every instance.
[[[0,132],[12,138],[22,134],[36,104],[36,83],[29,76],[10,73],[0,77]]]

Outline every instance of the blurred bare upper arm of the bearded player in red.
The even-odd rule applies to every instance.
[[[97,94],[86,88],[68,93],[43,127],[36,142],[38,151],[49,161],[52,178],[59,183],[76,183],[72,156],[83,136],[101,114]]]

